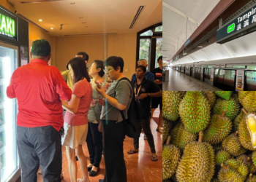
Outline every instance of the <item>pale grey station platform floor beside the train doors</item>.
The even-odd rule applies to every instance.
[[[169,78],[162,84],[164,91],[216,91],[217,87],[188,76],[179,71],[169,70]]]

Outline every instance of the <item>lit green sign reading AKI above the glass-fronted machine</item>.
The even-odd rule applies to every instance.
[[[17,17],[0,7],[0,36],[17,40]]]

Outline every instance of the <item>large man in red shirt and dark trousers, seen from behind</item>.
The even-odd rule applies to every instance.
[[[39,165],[44,181],[61,181],[61,100],[72,91],[54,66],[48,66],[50,44],[44,39],[31,46],[29,64],[17,68],[7,96],[17,98],[17,143],[21,181],[37,181]]]

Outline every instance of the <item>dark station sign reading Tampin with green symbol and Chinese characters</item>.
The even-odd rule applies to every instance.
[[[248,33],[256,31],[256,5],[246,12],[238,15],[234,20],[227,23],[217,31],[217,43],[224,44],[227,41],[237,39]]]

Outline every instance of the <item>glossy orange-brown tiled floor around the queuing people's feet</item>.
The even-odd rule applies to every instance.
[[[157,117],[159,111],[154,112],[154,117]],[[127,154],[127,151],[132,149],[132,138],[126,138],[124,141],[124,159],[127,165],[127,178],[128,182],[162,182],[162,135],[156,131],[157,124],[151,120],[151,131],[154,136],[154,142],[157,150],[158,161],[151,161],[151,152],[148,146],[148,142],[143,140],[144,134],[140,135],[140,151],[137,154]],[[64,174],[63,182],[70,181],[69,171],[67,165],[66,152],[63,147],[63,165],[62,173]],[[83,146],[83,151],[86,154],[87,162],[89,162],[89,152],[87,146]],[[105,162],[102,156],[102,162],[100,164],[100,173],[95,177],[89,177],[91,182],[98,182],[99,179],[104,178],[105,174]],[[42,182],[42,175],[37,175],[37,181]],[[78,178],[82,177],[80,166],[78,162]],[[62,182],[61,181],[61,182]]]

